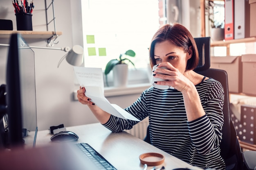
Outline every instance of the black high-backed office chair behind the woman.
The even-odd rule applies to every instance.
[[[194,71],[219,81],[224,88],[224,124],[222,127],[220,155],[226,163],[227,170],[243,170],[242,152],[236,136],[236,129],[230,116],[227,72],[225,70],[210,68],[210,37],[195,38],[195,42],[198,47],[200,60],[198,67]],[[144,138],[144,141],[148,143],[150,143],[149,128],[148,126],[147,135]]]

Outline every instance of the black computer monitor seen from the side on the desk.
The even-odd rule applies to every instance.
[[[12,34],[7,57],[6,103],[9,147],[35,146],[37,134],[34,51]]]

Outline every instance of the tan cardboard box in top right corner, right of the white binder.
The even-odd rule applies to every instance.
[[[249,0],[250,4],[250,37],[256,36],[256,0]]]

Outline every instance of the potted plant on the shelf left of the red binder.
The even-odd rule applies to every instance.
[[[208,1],[206,11],[208,13],[209,24],[211,26],[211,39],[213,41],[220,41],[225,39],[225,14],[224,2]],[[223,13],[222,13],[223,12]]]

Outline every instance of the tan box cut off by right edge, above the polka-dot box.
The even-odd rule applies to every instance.
[[[256,95],[256,54],[243,54],[242,92]]]

